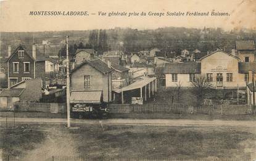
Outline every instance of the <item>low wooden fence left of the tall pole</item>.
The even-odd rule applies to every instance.
[[[67,112],[66,104],[58,103],[16,102],[14,107],[17,112],[49,112],[54,114]]]

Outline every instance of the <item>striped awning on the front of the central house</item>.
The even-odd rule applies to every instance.
[[[101,103],[102,91],[72,91],[70,104]]]

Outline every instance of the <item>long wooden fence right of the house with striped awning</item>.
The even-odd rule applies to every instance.
[[[204,105],[193,107],[183,104],[111,104],[109,110],[112,114],[250,114],[250,107],[247,105]]]

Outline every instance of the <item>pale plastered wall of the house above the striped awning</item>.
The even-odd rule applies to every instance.
[[[83,75],[91,75],[91,88],[85,90],[102,90],[103,92],[103,101],[108,101],[108,86],[107,86],[107,74],[103,75],[101,72],[91,67],[88,64],[83,65],[82,67],[75,70],[71,75],[71,89],[72,90],[83,90]],[[109,74],[109,99],[111,99],[112,83],[111,83],[111,73]]]

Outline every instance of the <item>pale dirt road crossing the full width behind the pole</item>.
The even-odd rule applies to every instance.
[[[7,118],[8,123],[14,122],[14,118]],[[6,118],[0,117],[0,124],[5,125]],[[15,123],[67,123],[65,118],[15,118]],[[256,121],[234,120],[187,120],[187,119],[106,119],[106,120],[83,120],[71,119],[72,124],[88,125],[148,125],[148,126],[247,126],[255,127]]]

